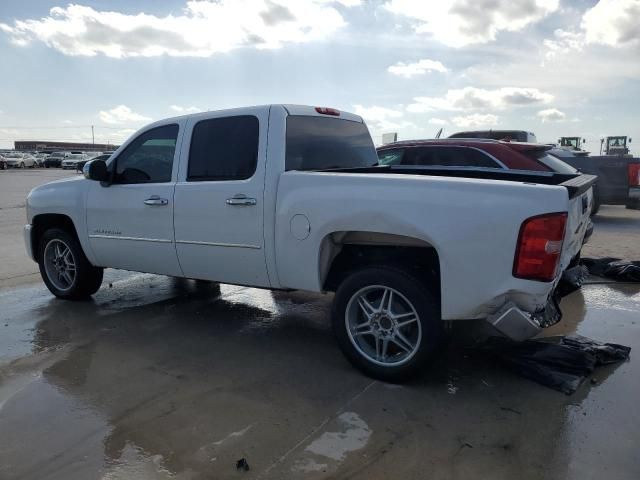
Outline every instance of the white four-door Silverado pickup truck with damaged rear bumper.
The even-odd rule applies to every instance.
[[[84,177],[27,199],[54,295],[94,294],[105,267],[335,292],[340,347],[385,380],[419,370],[443,321],[515,339],[557,322],[595,178],[378,166],[360,117],[294,105],[153,123]]]

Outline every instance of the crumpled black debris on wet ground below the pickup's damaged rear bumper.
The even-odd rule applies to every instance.
[[[499,360],[525,378],[567,395],[574,393],[595,367],[624,361],[631,352],[630,347],[601,343],[581,335],[524,342],[490,337],[475,350]]]

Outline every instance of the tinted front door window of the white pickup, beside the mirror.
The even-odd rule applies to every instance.
[[[166,183],[171,181],[178,125],[149,130],[116,158],[113,183]]]

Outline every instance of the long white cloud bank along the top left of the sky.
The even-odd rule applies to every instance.
[[[0,30],[16,45],[39,40],[66,55],[208,57],[242,47],[279,48],[324,39],[345,25],[333,3],[189,0],[180,15],[165,17],[70,4],[52,8],[41,19],[0,23]]]

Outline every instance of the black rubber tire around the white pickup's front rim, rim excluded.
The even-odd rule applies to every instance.
[[[67,289],[56,286],[54,281],[49,278],[45,267],[45,250],[52,240],[58,240],[68,246],[73,256],[75,276]],[[42,235],[38,245],[38,266],[42,280],[49,291],[56,297],[65,300],[81,300],[90,297],[98,291],[102,284],[103,269],[91,265],[75,235],[60,228],[50,228]]]

